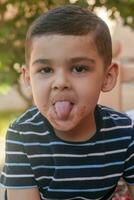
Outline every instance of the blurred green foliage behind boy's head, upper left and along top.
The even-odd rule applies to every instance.
[[[19,84],[15,63],[24,64],[26,31],[31,22],[53,7],[69,4],[71,0],[3,0],[0,1],[0,85]],[[76,0],[75,4],[94,10],[104,6],[109,16],[117,13],[125,25],[134,28],[134,0]]]

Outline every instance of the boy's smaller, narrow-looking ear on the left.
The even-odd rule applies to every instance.
[[[26,66],[22,66],[21,69],[22,78],[24,80],[24,83],[27,87],[30,87],[30,75],[29,75],[29,68]]]

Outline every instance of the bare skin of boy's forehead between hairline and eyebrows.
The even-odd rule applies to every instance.
[[[81,48],[97,51],[97,46],[93,39],[92,34],[87,35],[60,35],[60,34],[49,34],[36,36],[32,39],[31,42],[31,51],[32,50],[46,50],[50,49],[75,49],[75,52],[78,52]]]

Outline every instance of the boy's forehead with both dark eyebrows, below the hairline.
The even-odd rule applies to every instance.
[[[36,63],[102,62],[91,35],[42,35],[32,41],[30,65]]]

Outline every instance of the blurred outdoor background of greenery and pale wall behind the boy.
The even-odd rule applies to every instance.
[[[42,12],[71,3],[95,11],[112,35],[113,60],[119,63],[120,73],[117,86],[101,94],[99,103],[134,112],[134,0],[0,0],[0,171],[7,127],[32,105],[21,77],[27,29]],[[118,189],[114,200],[129,200],[126,187],[122,182],[119,185],[123,189]],[[0,187],[0,200],[2,196]]]

